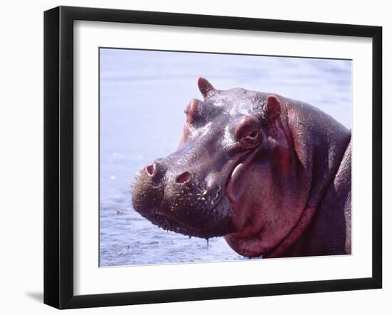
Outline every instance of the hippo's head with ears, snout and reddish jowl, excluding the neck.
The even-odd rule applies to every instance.
[[[284,225],[277,220],[295,163],[279,119],[281,101],[242,88],[215,90],[204,78],[198,85],[205,100],[187,106],[177,151],[140,171],[133,207],[165,230],[227,235],[237,252],[260,255],[260,249],[241,250],[236,240],[277,229],[262,246],[268,250],[299,218],[293,211]]]

